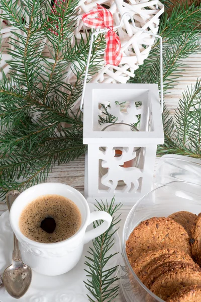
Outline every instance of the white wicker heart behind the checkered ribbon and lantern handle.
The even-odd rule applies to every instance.
[[[81,0],[77,7],[77,12],[75,12],[75,14],[78,13],[78,16],[76,17],[77,24],[74,30],[74,35],[77,39],[80,39],[81,34],[86,39],[85,35],[89,29],[83,25],[81,15],[96,7],[96,3],[105,5],[109,8],[113,14],[115,25],[118,25],[121,16],[125,12],[128,12],[133,16],[137,27],[147,30],[146,34],[134,29],[131,23],[129,23],[128,17],[127,20],[124,21],[123,27],[118,29],[123,50],[121,64],[119,66],[103,66],[98,70],[93,79],[91,79],[92,83],[126,83],[130,77],[134,77],[135,70],[139,65],[143,64],[144,59],[149,55],[151,46],[154,42],[154,38],[149,35],[149,31],[155,34],[157,33],[159,17],[164,12],[164,6],[158,0]],[[29,21],[26,21],[27,24],[29,24]],[[14,37],[15,32],[18,33],[20,30],[15,28],[12,24],[8,25],[5,19],[1,19],[0,28],[3,45],[1,49],[3,52],[1,67],[3,67],[7,74],[9,66],[5,61],[11,59],[10,55],[7,54],[7,49],[12,47],[8,44],[9,38]],[[72,38],[72,44],[73,43],[74,39]],[[75,81],[75,74],[72,66],[68,67],[68,70],[71,70],[71,72],[66,72],[68,74],[66,76],[66,82],[73,84]]]

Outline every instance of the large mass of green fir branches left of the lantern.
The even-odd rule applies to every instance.
[[[20,29],[10,39],[10,72],[0,74],[2,197],[8,190],[44,181],[56,163],[74,160],[86,148],[82,113],[73,110],[81,95],[90,42],[90,33],[85,39],[81,35],[79,42],[73,37],[78,0],[56,6],[55,14],[49,1],[24,0],[19,7],[17,3],[0,4],[1,18]],[[97,37],[89,79],[101,67],[104,46],[104,36]],[[66,80],[69,72],[76,79],[73,85]]]

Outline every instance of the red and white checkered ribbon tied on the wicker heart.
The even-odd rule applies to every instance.
[[[93,18],[96,17],[97,18]],[[114,31],[113,15],[103,6],[97,4],[97,9],[93,9],[88,13],[82,15],[84,24],[90,28],[108,28],[109,31],[106,33],[106,50],[104,60],[106,64],[119,65],[122,60],[122,49],[120,38]]]

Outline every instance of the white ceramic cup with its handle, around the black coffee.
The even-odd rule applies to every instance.
[[[46,194],[57,194],[72,200],[80,210],[81,226],[70,238],[58,243],[40,243],[22,234],[19,219],[23,209],[34,199]],[[95,220],[104,222],[97,228],[87,231],[87,225]],[[43,183],[21,193],[14,201],[10,211],[10,223],[20,242],[22,259],[34,271],[48,276],[56,276],[71,270],[79,261],[83,245],[106,232],[112,222],[110,214],[104,211],[90,213],[86,199],[74,188],[60,183]]]

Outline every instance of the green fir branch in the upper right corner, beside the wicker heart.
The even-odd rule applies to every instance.
[[[171,16],[164,13],[160,20],[159,34],[163,38],[163,89],[173,88],[181,76],[183,59],[200,52],[198,39],[201,5],[176,5]],[[148,59],[135,71],[131,83],[157,83],[160,87],[159,41],[152,46]]]

